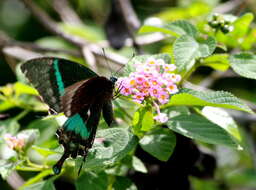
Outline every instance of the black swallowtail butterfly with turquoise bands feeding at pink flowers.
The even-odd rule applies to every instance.
[[[85,162],[92,147],[101,113],[108,124],[114,121],[112,98],[117,78],[99,76],[78,63],[55,57],[29,60],[21,70],[54,113],[68,118],[56,134],[64,147],[60,160],[53,166],[59,174],[70,156]],[[80,173],[82,164],[78,171]]]

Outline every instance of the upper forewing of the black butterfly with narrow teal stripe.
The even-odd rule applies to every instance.
[[[29,60],[21,70],[38,90],[45,103],[61,112],[61,96],[65,88],[81,80],[97,76],[92,70],[78,63],[52,57]]]

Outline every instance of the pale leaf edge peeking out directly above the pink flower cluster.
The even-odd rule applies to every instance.
[[[132,58],[124,67],[124,76],[128,76],[131,72],[134,72],[136,69],[136,66],[134,64],[136,62],[145,62],[148,58],[155,58],[155,59],[163,59],[165,63],[170,64],[171,63],[171,57],[170,55],[166,53],[162,54],[155,54],[155,55],[140,55],[135,56]]]

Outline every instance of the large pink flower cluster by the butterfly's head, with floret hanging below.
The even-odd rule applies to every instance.
[[[135,63],[135,68],[135,72],[128,77],[118,79],[122,95],[132,96],[138,103],[150,98],[157,104],[166,104],[170,95],[178,92],[176,84],[181,77],[173,73],[176,69],[174,64],[166,64],[163,59],[149,58],[146,62]],[[159,112],[155,119],[162,122],[166,117]]]

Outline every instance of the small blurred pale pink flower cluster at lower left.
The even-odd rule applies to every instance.
[[[21,150],[25,146],[25,139],[26,136],[21,134],[12,136],[11,134],[7,133],[4,135],[5,142],[13,150]]]

